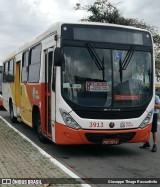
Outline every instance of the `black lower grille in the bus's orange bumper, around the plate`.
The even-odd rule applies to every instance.
[[[119,134],[91,134],[86,133],[85,136],[89,142],[102,143],[104,139],[119,139],[120,143],[128,142],[135,136],[135,132],[119,133]]]

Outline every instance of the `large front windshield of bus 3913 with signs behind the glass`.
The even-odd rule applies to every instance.
[[[150,52],[133,46],[131,50],[65,46],[63,51],[66,100],[83,107],[121,108],[143,105],[152,96]]]

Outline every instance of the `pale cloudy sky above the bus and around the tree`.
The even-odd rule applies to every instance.
[[[12,51],[45,31],[57,21],[79,21],[86,11],[74,10],[76,3],[96,0],[0,0],[0,64]],[[125,18],[138,18],[160,28],[159,0],[110,0]]]

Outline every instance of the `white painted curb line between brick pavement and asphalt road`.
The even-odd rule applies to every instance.
[[[14,128],[10,123],[8,123],[4,118],[0,117],[10,128],[12,128],[15,132],[17,132],[22,138],[30,142],[42,155],[47,157],[53,164],[58,166],[60,169],[62,169],[66,174],[68,174],[70,177],[75,178],[78,182],[85,183],[80,177],[78,177],[75,173],[73,173],[71,170],[69,170],[66,166],[61,164],[58,160],[53,158],[51,155],[46,153],[43,149],[38,147],[34,142],[32,142],[29,138],[27,138],[24,134],[19,132],[16,128]],[[82,187],[91,187],[89,184],[81,184]]]

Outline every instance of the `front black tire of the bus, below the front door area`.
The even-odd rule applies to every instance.
[[[47,138],[42,134],[41,119],[40,119],[39,112],[36,116],[36,127],[37,127],[37,134],[38,134],[39,141],[41,143],[47,143]]]

